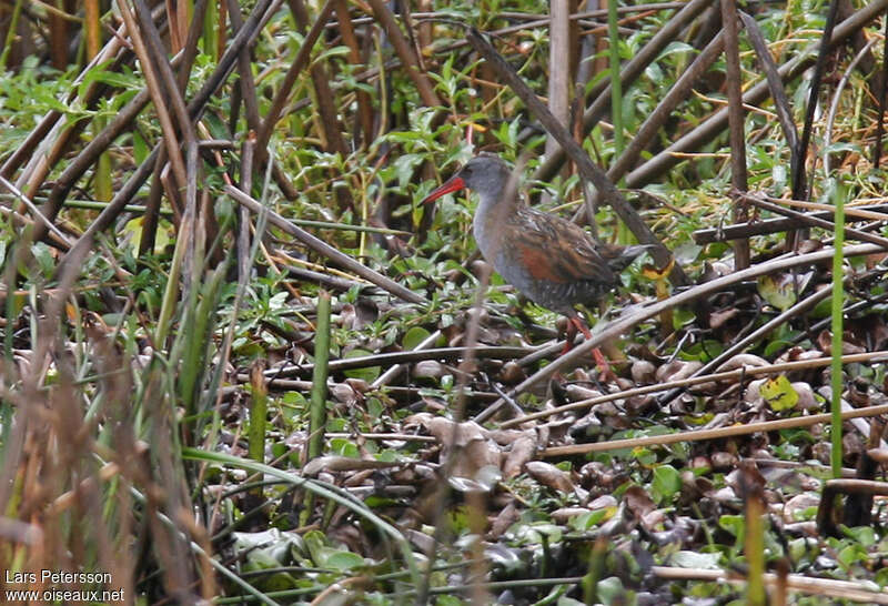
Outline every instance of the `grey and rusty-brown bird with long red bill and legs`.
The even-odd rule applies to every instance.
[[[597,242],[579,225],[525,204],[512,179],[505,161],[482,152],[422,202],[463,189],[478,195],[472,230],[482,256],[527,299],[567,317],[563,355],[577,331],[592,339],[576,305],[595,303],[613,291],[618,274],[653,246]],[[613,376],[602,352],[595,349],[593,355],[603,374]]]

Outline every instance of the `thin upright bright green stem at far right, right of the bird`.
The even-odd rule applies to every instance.
[[[836,205],[835,253],[833,254],[833,477],[841,477],[841,336],[844,332],[841,304],[845,299],[842,263],[845,255],[845,198],[847,189],[834,181],[833,201]]]

